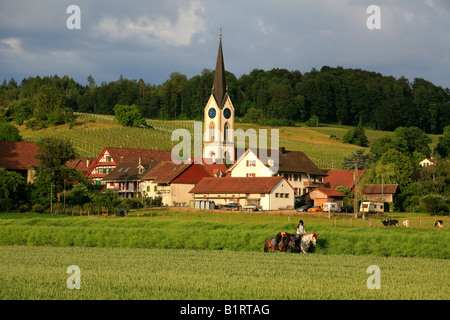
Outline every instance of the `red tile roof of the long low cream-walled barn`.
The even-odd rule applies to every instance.
[[[191,193],[270,193],[283,177],[203,178]],[[292,186],[291,186],[292,188]],[[294,190],[295,191],[295,190]]]

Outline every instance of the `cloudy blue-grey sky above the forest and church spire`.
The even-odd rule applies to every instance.
[[[70,5],[79,30],[67,28]],[[381,29],[367,27],[370,5]],[[221,27],[236,77],[327,65],[450,87],[449,0],[0,0],[0,80],[191,78],[215,68]]]

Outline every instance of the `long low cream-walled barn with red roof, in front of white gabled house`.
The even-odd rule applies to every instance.
[[[284,177],[203,178],[190,192],[195,200],[256,205],[262,210],[293,207],[295,196]]]

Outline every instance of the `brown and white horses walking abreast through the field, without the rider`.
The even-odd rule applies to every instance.
[[[264,252],[271,250],[279,250],[281,252],[296,252],[307,253],[310,244],[315,247],[317,243],[317,234],[307,233],[301,237],[292,235],[288,232],[279,232],[276,237],[269,237],[264,243]]]

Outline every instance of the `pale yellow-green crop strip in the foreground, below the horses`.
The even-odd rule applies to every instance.
[[[0,299],[303,300],[450,297],[450,262],[352,255],[0,247]],[[80,268],[69,290],[68,266]],[[380,289],[369,289],[369,266]]]

